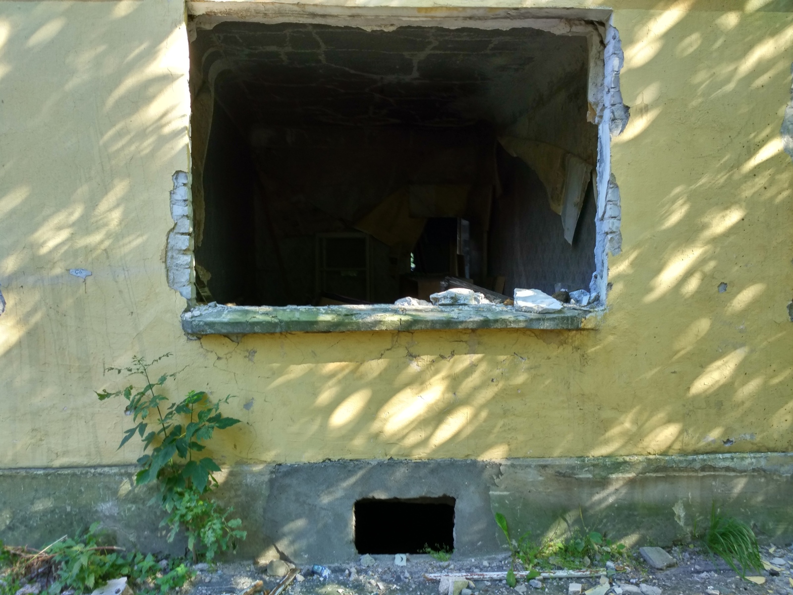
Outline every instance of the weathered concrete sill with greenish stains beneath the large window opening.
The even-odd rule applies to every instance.
[[[508,306],[226,306],[200,305],[182,314],[190,335],[269,332],[419,331],[450,328],[597,328],[600,313],[565,308],[552,314]]]

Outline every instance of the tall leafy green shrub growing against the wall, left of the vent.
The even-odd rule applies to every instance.
[[[140,390],[131,385],[114,393],[105,390],[97,396],[100,401],[118,396],[127,401],[125,413],[132,415],[136,425],[125,430],[119,448],[136,434],[143,440],[144,455],[138,459],[141,468],[135,482],[159,482],[161,505],[168,512],[163,524],[171,529],[168,541],[184,528],[193,561],[199,557],[212,560],[219,549],[235,549],[236,539],[245,539],[246,532],[239,530],[241,520],[227,520],[232,509],[225,510],[209,498],[218,485],[213,473],[220,471],[220,466],[211,457],[199,458],[197,453],[205,449],[205,442],[212,439],[215,430],[230,428],[239,420],[220,413],[220,405],[228,404],[232,395],[212,402],[204,391],[191,390],[182,401],[168,404],[168,397],[159,390],[176,374],[163,374],[152,382],[149,368],[169,355],[151,362],[134,356],[131,367],[106,368],[105,371],[117,374],[140,375],[146,383]]]

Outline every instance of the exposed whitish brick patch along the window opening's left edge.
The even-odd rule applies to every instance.
[[[190,229],[190,201],[186,171],[175,171],[170,191],[170,228],[165,251],[168,286],[188,301],[193,300],[193,236]]]

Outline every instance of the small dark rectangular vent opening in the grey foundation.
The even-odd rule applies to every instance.
[[[454,550],[454,498],[358,500],[354,505],[359,554],[423,554]]]

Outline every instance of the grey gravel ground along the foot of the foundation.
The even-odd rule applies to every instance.
[[[630,570],[617,573],[611,577],[611,585],[651,585],[661,589],[665,595],[690,595],[691,593],[709,595],[793,595],[791,567],[793,567],[793,551],[789,548],[776,548],[769,551],[761,548],[764,560],[784,559],[786,564],[779,564],[779,576],[771,576],[768,571],[758,575],[765,578],[763,585],[743,581],[737,578],[733,570],[722,560],[716,563],[701,551],[687,547],[676,547],[668,550],[677,560],[678,565],[668,570],[653,570],[638,556],[638,552],[630,555],[626,566]],[[428,555],[409,555],[407,566],[394,566],[392,555],[374,556],[376,564],[368,568],[359,561],[349,564],[331,564],[328,570],[331,576],[326,579],[312,574],[311,567],[301,568],[302,581],[295,581],[286,589],[286,595],[438,595],[439,582],[424,578],[427,573],[462,572],[462,571],[494,571],[508,569],[506,556],[458,559],[453,556],[450,562],[436,562]],[[776,571],[775,571],[776,572]],[[266,567],[255,566],[243,562],[220,563],[198,571],[197,577],[190,585],[190,595],[239,595],[255,581],[262,580],[265,589],[273,589],[279,578],[269,577]],[[534,589],[525,584],[511,589],[504,581],[475,582],[472,595],[520,595],[520,593],[553,593],[566,595],[572,579],[546,579],[542,589]],[[584,589],[598,585],[599,578],[584,579]],[[524,591],[524,589],[526,589]],[[618,593],[611,590],[610,593]],[[467,593],[466,593],[467,595]],[[632,595],[630,586],[623,590],[623,595]]]

